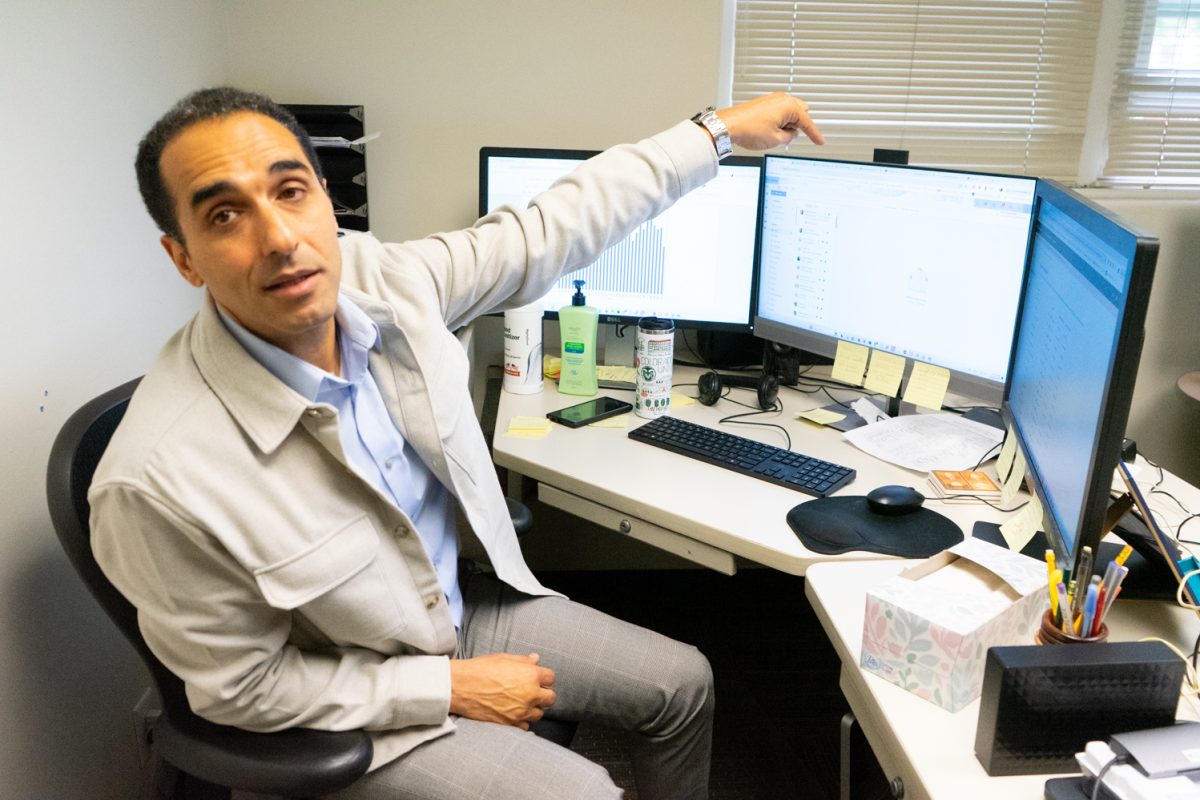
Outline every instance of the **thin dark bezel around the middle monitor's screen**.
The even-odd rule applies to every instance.
[[[926,172],[926,173],[942,173],[942,174],[960,174],[960,175],[984,175],[989,178],[1013,178],[1019,180],[1026,180],[1034,184],[1034,197],[1037,192],[1037,178],[1027,175],[1012,175],[1006,173],[991,173],[982,170],[971,169],[949,169],[944,167],[920,167],[916,164],[895,164],[888,162],[872,162],[872,161],[852,161],[848,158],[814,158],[811,156],[788,156],[782,154],[767,154],[763,157],[762,174],[760,178],[760,190],[758,190],[758,235],[757,243],[755,247],[762,253],[762,229],[766,225],[766,203],[767,203],[767,173],[770,161],[808,161],[818,163],[833,163],[833,164],[853,164],[859,167],[875,167],[880,169],[905,169],[913,172]],[[1033,236],[1033,215],[1030,213],[1030,225],[1025,231],[1025,259],[1028,260],[1030,246],[1032,243]],[[816,331],[804,330],[802,327],[788,325],[786,323],[780,323],[767,317],[758,314],[758,295],[761,290],[762,281],[762,263],[760,257],[760,263],[757,265],[755,275],[755,319],[754,319],[754,333],[756,337],[766,339],[768,342],[775,342],[778,344],[785,344],[788,347],[797,348],[799,350],[806,350],[814,355],[834,357],[838,353],[838,338],[829,336],[828,333],[818,333]],[[1021,294],[1025,291],[1025,270],[1021,270]],[[1021,295],[1019,294],[1018,297]],[[1018,300],[1018,307],[1020,301]],[[1019,313],[1019,311],[1018,311]],[[1016,333],[1016,319],[1013,317],[1013,336]],[[935,365],[942,366],[942,365]],[[1009,359],[1009,367],[1012,366],[1012,359]],[[912,371],[912,365],[905,366],[905,378]],[[1003,399],[1004,393],[1004,381],[991,380],[989,378],[983,378],[979,375],[971,374],[968,372],[962,372],[959,369],[949,369],[950,383],[949,390],[960,395],[965,395],[973,399],[988,403],[990,405],[998,407]]]

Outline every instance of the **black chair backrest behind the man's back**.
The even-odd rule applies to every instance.
[[[50,522],[79,577],[91,590],[108,616],[121,630],[154,678],[163,708],[186,705],[184,684],[146,646],[138,628],[137,609],[109,583],[91,552],[91,530],[88,524],[90,506],[88,487],[96,473],[104,449],[140,378],[112,389],[89,401],[62,425],[46,469],[46,497],[50,506]]]

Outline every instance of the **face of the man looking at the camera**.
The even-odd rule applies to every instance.
[[[330,344],[337,222],[292,132],[250,112],[197,122],[167,145],[161,170],[186,243],[162,242],[180,275],[294,355]]]

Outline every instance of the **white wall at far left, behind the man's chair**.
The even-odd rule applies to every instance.
[[[223,78],[209,11],[0,0],[0,798],[140,796],[130,709],[148,679],[62,555],[44,470],[66,417],[196,306],[133,154],[180,94]]]

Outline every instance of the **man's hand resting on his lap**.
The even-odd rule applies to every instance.
[[[494,652],[450,661],[450,714],[522,730],[554,704],[554,670],[538,666],[538,654]]]

